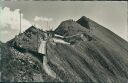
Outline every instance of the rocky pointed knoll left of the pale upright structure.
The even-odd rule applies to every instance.
[[[7,43],[11,46],[19,46],[32,51],[38,51],[41,38],[45,39],[45,32],[31,26],[24,33],[17,35]]]

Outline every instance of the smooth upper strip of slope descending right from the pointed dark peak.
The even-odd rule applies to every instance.
[[[122,39],[121,37],[113,33],[112,31],[108,30],[107,28],[92,21],[91,19],[85,18],[85,20],[88,20],[88,25],[91,28],[92,34],[94,36],[112,45],[114,49],[116,48],[117,50],[120,50],[120,51],[125,50],[128,52],[128,42],[126,42],[124,39]]]

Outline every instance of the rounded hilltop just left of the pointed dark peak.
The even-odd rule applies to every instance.
[[[89,30],[73,20],[63,21],[55,30],[56,34],[61,36],[73,36],[79,33],[89,33]]]

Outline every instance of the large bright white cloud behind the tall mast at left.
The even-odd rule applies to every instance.
[[[31,26],[31,23],[23,17],[22,32]],[[0,7],[0,41],[6,42],[12,39],[20,30],[20,9],[10,10],[8,7]]]

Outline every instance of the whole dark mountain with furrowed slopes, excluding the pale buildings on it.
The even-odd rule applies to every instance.
[[[45,39],[46,36],[35,27],[7,42],[1,52],[1,80],[85,83],[128,81],[128,43],[110,30],[82,17],[78,21],[62,22],[54,33],[64,36],[62,39],[70,44],[47,41],[45,55],[38,54],[36,40],[40,42],[40,38]],[[29,41],[24,41],[24,38]]]

